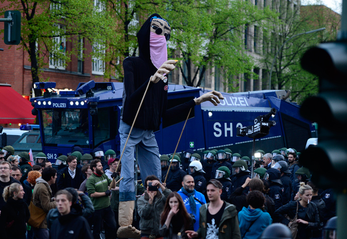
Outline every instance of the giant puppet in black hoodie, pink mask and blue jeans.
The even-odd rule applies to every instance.
[[[174,108],[166,108],[168,82],[164,75],[173,70],[177,63],[177,60],[167,60],[166,41],[170,38],[170,31],[166,20],[158,14],[151,15],[137,33],[139,56],[127,57],[123,61],[124,90],[119,133],[121,150],[124,149],[124,152],[121,170],[123,180],[119,190],[120,228],[117,232],[120,238],[140,237],[140,232],[131,226],[135,201],[135,146],[138,146],[138,164],[142,179],[149,175],[160,179],[159,149],[153,132],[159,128],[161,118],[172,120],[176,114],[188,116],[195,105],[204,101],[217,105],[220,103],[219,99],[223,99],[220,93],[212,91]],[[148,90],[129,136],[147,86]]]

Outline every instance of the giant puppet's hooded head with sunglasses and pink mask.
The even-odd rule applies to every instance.
[[[140,57],[159,68],[167,60],[166,40],[170,27],[159,14],[152,14],[137,33]]]

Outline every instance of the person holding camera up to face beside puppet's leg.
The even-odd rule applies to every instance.
[[[144,195],[137,200],[137,211],[141,217],[141,239],[160,238],[160,215],[171,190],[165,188],[154,175],[145,179],[144,187]],[[162,193],[158,191],[159,188]]]

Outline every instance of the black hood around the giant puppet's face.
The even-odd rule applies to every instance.
[[[137,36],[137,42],[139,44],[140,57],[144,61],[146,61],[150,66],[153,66],[155,68],[152,61],[150,60],[150,53],[149,53],[149,33],[150,33],[150,23],[151,23],[152,17],[161,18],[161,16],[157,13],[152,14],[146,20],[146,22],[142,25],[142,27],[140,28],[136,36]]]

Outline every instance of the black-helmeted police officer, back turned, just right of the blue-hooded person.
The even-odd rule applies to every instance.
[[[282,207],[282,181],[281,173],[277,169],[268,169],[267,173],[269,175],[270,191],[269,196],[275,201],[276,210]]]

